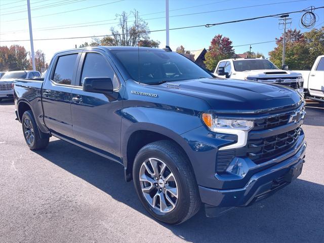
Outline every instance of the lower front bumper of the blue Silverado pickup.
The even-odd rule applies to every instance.
[[[238,189],[211,189],[199,186],[201,201],[211,207],[238,207],[248,206],[256,200],[262,199],[274,191],[287,186],[290,182],[280,179],[289,173],[292,166],[303,163],[305,157],[306,142],[292,157],[283,160],[267,169],[255,173],[248,183]]]

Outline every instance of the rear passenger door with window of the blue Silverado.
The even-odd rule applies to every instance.
[[[68,139],[73,138],[71,90],[80,56],[78,52],[57,55],[42,89],[46,126],[52,133]]]

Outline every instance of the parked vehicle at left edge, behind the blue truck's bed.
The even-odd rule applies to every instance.
[[[15,79],[33,79],[39,78],[41,73],[38,71],[12,71],[6,72],[0,79],[0,101],[3,98],[13,98],[13,82]]]

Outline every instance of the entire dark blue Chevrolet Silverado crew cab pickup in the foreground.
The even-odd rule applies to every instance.
[[[216,79],[170,48],[62,51],[44,79],[16,80],[14,98],[31,150],[55,136],[120,163],[145,209],[169,224],[202,204],[208,217],[248,206],[305,162],[300,93]]]

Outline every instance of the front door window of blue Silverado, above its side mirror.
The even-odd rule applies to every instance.
[[[106,77],[112,80],[113,88],[119,88],[119,81],[105,57],[99,53],[87,53],[82,68],[80,85],[83,85],[85,78]]]

